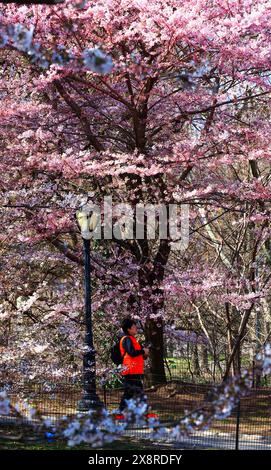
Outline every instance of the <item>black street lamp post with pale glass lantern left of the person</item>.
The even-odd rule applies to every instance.
[[[87,411],[91,408],[101,407],[103,404],[96,393],[96,361],[93,345],[92,312],[91,312],[91,261],[90,261],[90,238],[97,226],[97,216],[88,206],[82,206],[76,212],[76,219],[81,231],[84,243],[84,278],[85,278],[85,346],[86,352],[83,356],[83,381],[84,393],[78,403],[79,411]]]

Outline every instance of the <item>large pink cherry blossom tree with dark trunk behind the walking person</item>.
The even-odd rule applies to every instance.
[[[66,1],[2,10],[3,27],[20,24],[31,31],[29,48],[54,52],[45,67],[10,40],[0,51],[4,281],[16,279],[18,297],[23,269],[13,280],[8,271],[27,266],[26,249],[36,259],[48,250],[61,257],[78,280],[73,214],[90,196],[99,206],[108,196],[132,208],[163,204],[166,225],[170,205],[189,205],[184,253],[169,236],[93,241],[94,309],[116,326],[127,312],[142,321],[155,382],[165,380],[172,297],[181,316],[191,302],[201,315],[199,301],[211,296],[214,309],[225,307],[228,373],[270,285],[270,2]],[[104,66],[109,56],[113,68]],[[255,287],[259,256],[265,274]],[[77,287],[74,294],[79,302]]]

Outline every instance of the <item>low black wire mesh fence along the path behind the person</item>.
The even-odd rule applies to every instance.
[[[180,379],[171,379],[167,384],[145,387],[148,404],[158,415],[161,424],[168,427],[166,439],[160,442],[171,448],[206,448],[206,449],[252,449],[271,450],[271,389],[268,387],[251,390],[248,397],[240,400],[240,405],[226,420],[215,420],[206,431],[197,431],[181,442],[171,438],[172,423],[178,422],[186,411],[198,408],[208,399],[211,384],[197,384]],[[108,410],[118,408],[123,389],[104,386],[98,390],[101,400]],[[13,404],[21,407],[26,422],[31,421],[23,402],[36,408],[44,417],[58,421],[63,415],[72,416],[77,411],[82,396],[81,383],[21,383],[9,387],[9,397]],[[20,405],[21,404],[21,405]],[[16,425],[14,417],[0,417],[0,431],[7,424]],[[148,439],[148,429],[129,429],[127,437]],[[1,432],[0,432],[1,441]],[[159,442],[156,442],[159,445]]]

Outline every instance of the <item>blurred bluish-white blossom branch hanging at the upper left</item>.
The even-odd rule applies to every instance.
[[[110,55],[105,54],[99,48],[84,49],[81,56],[75,56],[64,46],[59,45],[53,50],[46,50],[39,43],[33,42],[34,26],[29,29],[20,23],[4,25],[0,22],[0,47],[11,46],[20,52],[27,54],[32,63],[42,69],[48,69],[50,65],[61,67],[73,66],[85,67],[87,70],[99,74],[111,72],[113,62]]]

